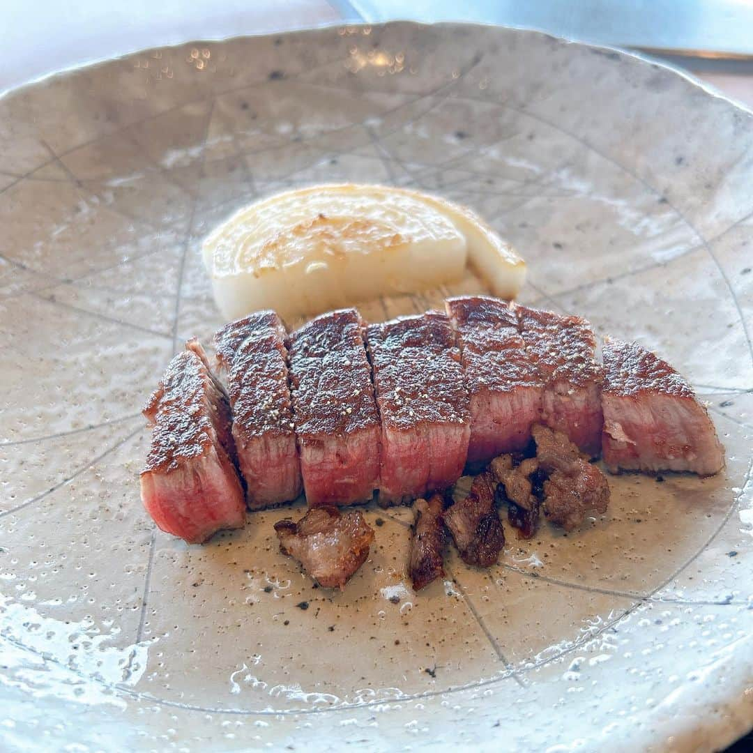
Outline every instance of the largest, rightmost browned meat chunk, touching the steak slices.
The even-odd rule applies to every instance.
[[[562,434],[546,426],[534,426],[536,457],[549,474],[544,481],[544,514],[552,523],[572,531],[583,523],[589,510],[607,511],[609,484],[578,447]]]

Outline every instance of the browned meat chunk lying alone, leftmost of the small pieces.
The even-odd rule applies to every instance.
[[[297,523],[279,520],[275,531],[282,553],[325,588],[343,589],[366,561],[374,538],[360,511],[343,514],[330,506],[309,509]]]

